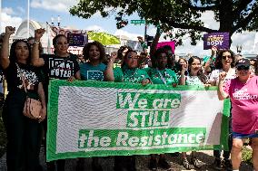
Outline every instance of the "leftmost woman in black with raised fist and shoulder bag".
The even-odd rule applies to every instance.
[[[42,136],[42,123],[46,115],[45,93],[42,76],[30,65],[31,49],[24,40],[12,43],[9,55],[9,38],[15,28],[5,27],[0,54],[1,66],[8,84],[8,95],[3,109],[7,134],[6,164],[8,171],[37,171]],[[40,100],[42,109],[39,119],[25,117],[23,110],[26,97]]]

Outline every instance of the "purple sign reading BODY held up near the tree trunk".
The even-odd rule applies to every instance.
[[[212,49],[229,49],[229,33],[205,33],[203,35],[203,50]]]

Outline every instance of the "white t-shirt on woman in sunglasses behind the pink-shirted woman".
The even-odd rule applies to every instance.
[[[220,73],[223,72],[223,69],[217,69],[217,70],[213,70],[212,71],[212,74],[210,76],[210,82],[216,82],[216,86],[219,84],[219,75]],[[231,79],[234,79],[236,77],[236,74],[235,74],[235,69],[234,68],[231,68],[227,74],[226,74],[226,77],[225,77],[225,81],[229,81]]]

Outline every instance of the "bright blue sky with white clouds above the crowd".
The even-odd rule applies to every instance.
[[[0,33],[5,32],[5,26],[20,25],[27,18],[27,0],[0,0],[1,2],[1,26]],[[99,32],[112,33],[114,35],[125,35],[133,40],[137,40],[137,36],[144,36],[144,24],[130,24],[130,20],[140,19],[137,14],[126,17],[129,21],[123,29],[116,29],[115,15],[103,18],[100,14],[94,14],[89,19],[82,19],[69,14],[69,7],[75,5],[78,0],[30,0],[30,19],[39,23],[51,23],[51,18],[54,18],[54,23],[57,25],[57,17],[60,16],[60,26],[69,26],[74,29],[94,30]],[[205,26],[212,29],[218,29],[219,24],[213,20],[213,13],[207,12],[202,15],[202,20]],[[16,28],[18,29],[18,28]],[[156,29],[150,26],[147,29],[147,34],[154,35]],[[258,35],[258,34],[257,34]],[[231,50],[236,52],[236,45],[243,46],[243,55],[248,53],[258,53],[258,47],[253,48],[254,32],[234,33]],[[161,41],[165,41],[163,38]],[[190,39],[185,36],[183,38],[184,45],[178,46],[175,53],[192,53],[202,56],[209,55],[210,50],[203,50],[203,41],[199,41],[196,46],[190,44]]]

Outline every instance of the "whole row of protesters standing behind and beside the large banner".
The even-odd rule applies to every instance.
[[[7,133],[6,164],[8,171],[42,170],[39,151],[43,132],[46,130],[46,104],[50,80],[114,81],[146,84],[218,86],[218,98],[230,98],[232,109],[229,119],[229,151],[214,150],[213,166],[217,170],[239,170],[243,138],[250,138],[253,147],[253,169],[258,170],[258,64],[257,59],[247,60],[230,50],[213,47],[211,57],[203,63],[198,56],[189,60],[175,60],[170,46],[164,46],[149,57],[146,52],[135,52],[129,46],[121,46],[118,52],[105,54],[101,43],[87,43],[82,55],[68,52],[69,44],[63,34],[53,40],[54,54],[44,54],[40,39],[45,29],[35,30],[33,39],[17,40],[11,45],[9,38],[15,28],[7,26],[0,53],[1,68],[7,82],[8,95],[3,108],[3,120]],[[257,56],[258,58],[258,56]],[[89,74],[93,71],[94,74]],[[25,85],[23,84],[23,78]],[[42,102],[41,118],[23,115],[25,89]],[[248,97],[238,90],[245,90]],[[256,97],[252,98],[252,97]],[[245,98],[245,99],[244,99]],[[245,111],[248,110],[249,113]],[[44,131],[42,131],[44,129]],[[51,130],[48,130],[51,131]],[[46,134],[45,134],[46,135]],[[46,139],[46,138],[43,138]],[[232,149],[231,149],[232,148]],[[182,153],[185,169],[200,168],[196,152],[188,161]],[[230,156],[232,159],[230,159]],[[149,168],[170,168],[164,154],[150,155]],[[103,170],[99,157],[93,157],[93,170]],[[48,171],[64,171],[65,159],[47,162]],[[76,170],[84,170],[84,158],[77,159]],[[114,157],[115,171],[134,171],[135,156]]]

